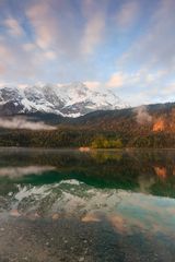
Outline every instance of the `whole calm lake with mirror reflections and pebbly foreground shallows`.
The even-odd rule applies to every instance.
[[[175,261],[175,151],[0,148],[0,261]]]

